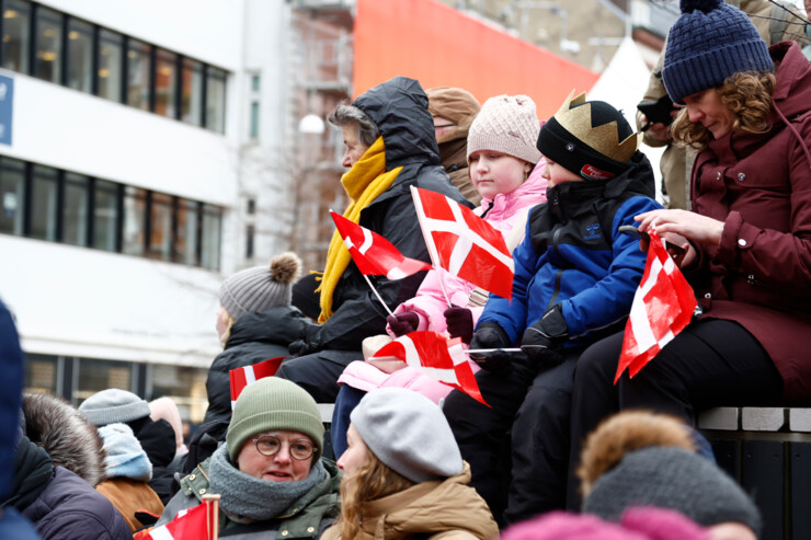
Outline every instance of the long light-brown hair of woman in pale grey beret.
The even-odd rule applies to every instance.
[[[341,516],[335,522],[339,538],[357,538],[361,532],[363,505],[369,501],[408,490],[414,482],[403,478],[377,459],[366,448],[367,461],[341,483]]]

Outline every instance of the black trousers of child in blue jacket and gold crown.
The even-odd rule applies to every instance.
[[[550,369],[536,372],[526,358],[514,359],[505,375],[477,374],[484,405],[459,391],[444,412],[470,463],[471,485],[488,502],[500,524],[562,508],[569,462],[569,412],[573,370],[580,351]],[[504,507],[504,474],[499,459],[512,427],[512,480]]]

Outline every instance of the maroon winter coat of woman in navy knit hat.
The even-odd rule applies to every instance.
[[[693,210],[724,222],[694,286],[705,317],[735,321],[763,345],[785,401],[811,403],[811,64],[792,42],[769,53],[772,130],[712,140],[693,169]]]

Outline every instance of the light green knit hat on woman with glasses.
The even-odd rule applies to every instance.
[[[233,405],[226,445],[236,461],[242,445],[259,433],[274,429],[300,432],[316,444],[313,462],[323,450],[323,424],[316,400],[305,389],[286,379],[265,377],[248,384]]]

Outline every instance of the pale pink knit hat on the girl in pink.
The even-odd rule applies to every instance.
[[[468,160],[478,150],[494,150],[529,163],[540,161],[540,122],[526,95],[498,95],[484,102],[468,133]]]

